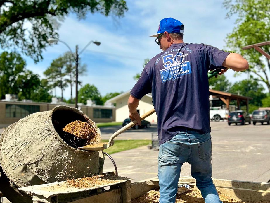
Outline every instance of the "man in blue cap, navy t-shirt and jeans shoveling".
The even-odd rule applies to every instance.
[[[129,117],[141,125],[139,100],[152,92],[158,116],[158,178],[160,203],[176,201],[181,166],[191,164],[191,175],[206,203],[221,202],[212,181],[209,84],[207,71],[224,67],[248,69],[248,62],[205,44],[183,42],[184,25],[173,18],[160,21],[155,41],[163,50],[153,57],[130,92]]]

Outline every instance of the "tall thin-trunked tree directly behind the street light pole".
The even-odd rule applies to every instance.
[[[68,79],[66,81],[70,85],[70,103],[73,103],[72,87],[75,83],[75,76],[76,76],[76,64],[74,54],[71,52],[66,52],[62,58],[65,63],[65,72],[68,76]],[[85,64],[81,65],[79,58],[78,75],[83,75],[85,74],[85,72],[86,72],[86,65]],[[78,84],[81,84],[81,82],[78,81]]]

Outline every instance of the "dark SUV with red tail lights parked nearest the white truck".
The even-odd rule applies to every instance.
[[[241,125],[245,125],[245,123],[251,124],[251,118],[247,112],[243,110],[231,111],[228,116],[228,125],[235,123],[236,125],[240,123]]]

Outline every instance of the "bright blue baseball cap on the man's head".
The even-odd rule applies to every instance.
[[[159,34],[167,31],[168,33],[184,33],[184,25],[174,18],[164,18],[160,21],[158,26],[158,34],[150,37],[158,37]]]

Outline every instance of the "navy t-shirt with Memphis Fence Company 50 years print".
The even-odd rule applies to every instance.
[[[228,55],[210,45],[180,43],[146,64],[130,94],[141,99],[152,92],[160,145],[183,128],[211,131],[207,71],[220,68]]]

